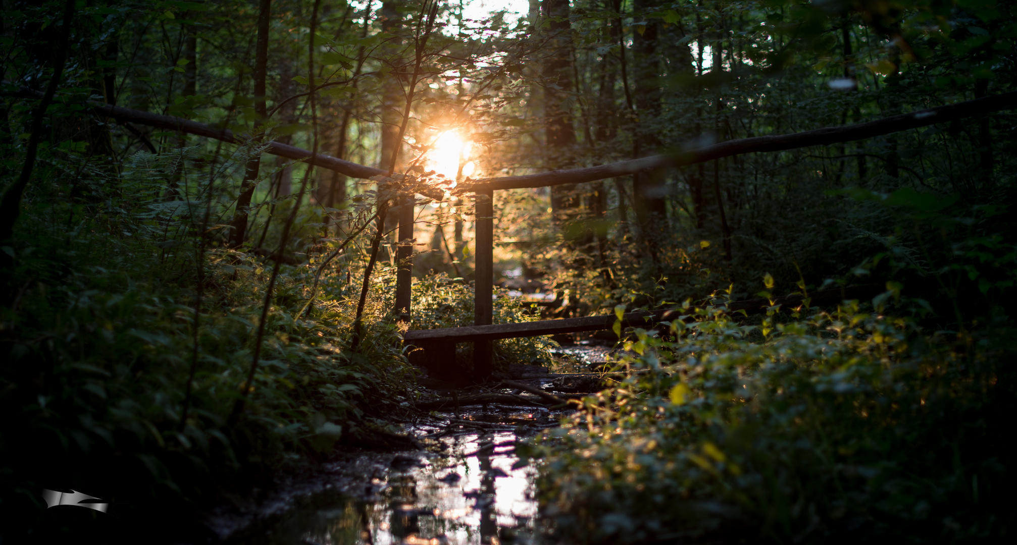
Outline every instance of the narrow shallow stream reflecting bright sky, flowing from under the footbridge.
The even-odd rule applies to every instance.
[[[592,350],[591,350],[592,349]],[[577,366],[603,361],[605,349],[561,350]],[[585,370],[585,369],[584,369]],[[560,375],[559,375],[560,376]],[[533,380],[553,389],[549,379]],[[519,467],[515,444],[571,411],[490,405],[413,426],[432,439],[378,466],[360,494],[320,492],[231,545],[528,545],[546,542],[537,521],[537,470]],[[473,421],[472,425],[455,422]],[[486,428],[486,429],[484,429]],[[434,446],[437,446],[434,448]],[[370,455],[365,455],[368,457]]]

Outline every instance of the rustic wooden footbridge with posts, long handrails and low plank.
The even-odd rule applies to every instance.
[[[26,98],[40,98],[42,95],[27,88],[18,93]],[[130,127],[130,123],[139,123],[180,132],[188,132],[227,142],[242,143],[242,138],[236,138],[232,131],[224,127],[206,125],[187,119],[153,114],[139,110],[130,110],[107,105],[95,101],[86,101],[85,105],[102,118],[112,118]],[[544,320],[526,323],[492,324],[493,313],[493,249],[494,249],[494,210],[492,199],[498,189],[516,189],[525,187],[547,187],[561,184],[576,184],[604,180],[618,176],[626,176],[668,167],[681,167],[713,161],[724,157],[733,157],[750,153],[779,152],[813,145],[829,145],[881,136],[893,132],[925,127],[938,123],[946,123],[958,119],[980,116],[1009,110],[1017,105],[1017,92],[1004,93],[965,101],[909,114],[901,114],[865,123],[856,123],[839,127],[795,132],[791,134],[754,136],[727,140],[711,145],[701,145],[681,149],[676,153],[653,156],[632,161],[621,161],[608,165],[553,171],[527,176],[506,176],[487,178],[461,184],[457,193],[474,193],[476,205],[476,238],[475,238],[475,308],[474,325],[467,327],[450,327],[443,329],[411,330],[404,339],[407,343],[422,348],[425,362],[433,369],[448,369],[448,362],[455,358],[456,343],[474,343],[474,379],[484,379],[491,372],[491,342],[497,339],[518,337],[536,337],[542,335],[567,334],[609,329],[613,326],[615,316],[589,316],[558,320]],[[280,142],[268,142],[266,152],[292,159],[305,161],[324,169],[340,172],[354,178],[371,178],[386,176],[387,171],[358,165],[349,161],[328,157],[323,154],[313,154]],[[432,198],[441,198],[440,191],[429,188],[418,188],[418,192]],[[412,195],[403,197],[400,206],[399,252],[398,257],[408,262],[413,246],[413,206]],[[246,215],[247,210],[237,210]],[[396,306],[403,316],[410,313],[410,288],[412,270],[410,266],[402,266],[397,275]],[[861,292],[846,293],[841,290],[818,292],[812,294],[816,304],[830,304],[845,298],[860,297]],[[864,293],[873,293],[873,287],[864,287]],[[874,294],[875,295],[875,294]],[[800,303],[800,298],[797,300]],[[775,301],[784,306],[794,306],[792,298]],[[765,308],[770,302],[754,300],[730,303],[728,311],[757,311]],[[622,316],[624,325],[649,325],[660,320],[676,317],[675,309],[657,310],[651,312],[633,312]]]

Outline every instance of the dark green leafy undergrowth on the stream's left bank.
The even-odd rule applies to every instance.
[[[18,224],[26,242],[3,248],[13,265],[0,306],[0,509],[56,531],[39,492],[73,489],[141,524],[398,431],[387,418],[410,401],[413,371],[390,312],[392,275],[371,283],[351,351],[356,271],[353,282],[326,275],[309,303],[315,268],[284,265],[237,413],[273,263],[225,249],[222,226],[201,243],[202,214],[229,203],[218,180],[174,199],[172,157],[139,154],[116,174],[58,159],[42,167]],[[224,169],[244,161],[238,153]]]

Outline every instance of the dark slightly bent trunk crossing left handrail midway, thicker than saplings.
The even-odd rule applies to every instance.
[[[265,108],[265,77],[268,64],[268,25],[272,21],[272,0],[260,0],[257,15],[257,42],[254,46],[254,113],[257,115],[256,125],[264,123],[268,117]],[[313,82],[313,79],[311,80]],[[312,93],[313,95],[313,93]],[[255,129],[254,144],[261,142],[263,129]],[[254,195],[254,183],[261,169],[261,155],[255,154],[244,169],[244,178],[240,182],[240,196],[237,197],[237,207],[233,214],[230,232],[230,245],[239,247],[247,236],[247,214]]]

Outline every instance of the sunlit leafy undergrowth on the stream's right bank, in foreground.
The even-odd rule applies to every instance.
[[[885,298],[884,298],[885,299]],[[687,306],[528,452],[573,543],[997,539],[1014,523],[1012,323],[930,335],[854,304]]]

